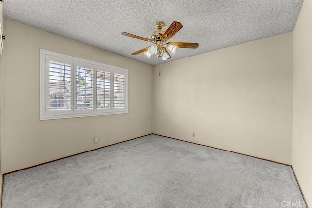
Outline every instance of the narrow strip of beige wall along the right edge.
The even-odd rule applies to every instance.
[[[293,31],[292,167],[312,207],[312,3],[304,1]]]

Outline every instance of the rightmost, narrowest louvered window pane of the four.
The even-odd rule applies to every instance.
[[[125,76],[114,73],[114,108],[125,107]]]

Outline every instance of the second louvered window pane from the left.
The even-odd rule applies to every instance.
[[[76,67],[76,109],[93,108],[93,70]]]

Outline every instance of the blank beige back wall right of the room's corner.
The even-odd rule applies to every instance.
[[[154,133],[291,164],[292,33],[164,63],[158,74],[157,65]]]

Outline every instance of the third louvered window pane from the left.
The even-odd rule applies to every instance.
[[[97,108],[110,108],[111,73],[97,70]]]

